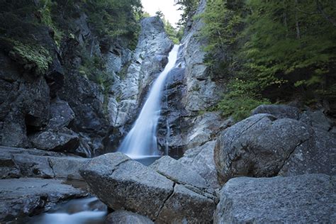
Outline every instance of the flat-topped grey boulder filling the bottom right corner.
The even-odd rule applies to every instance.
[[[335,182],[325,174],[230,179],[214,223],[335,223]]]

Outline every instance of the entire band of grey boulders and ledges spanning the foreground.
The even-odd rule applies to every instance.
[[[0,220],[94,194],[109,208],[105,223],[334,223],[336,138],[313,113],[260,106],[218,140],[148,167],[121,152],[1,147]]]

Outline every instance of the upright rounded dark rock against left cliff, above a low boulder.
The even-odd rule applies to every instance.
[[[50,102],[50,120],[45,129],[60,130],[74,120],[74,111],[66,101],[55,99]]]

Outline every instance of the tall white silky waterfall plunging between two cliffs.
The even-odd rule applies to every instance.
[[[123,152],[133,159],[159,156],[157,150],[157,122],[161,112],[162,89],[167,74],[175,66],[178,51],[179,45],[174,45],[169,53],[168,64],[152,84],[150,94],[140,115],[118,148],[118,152]]]

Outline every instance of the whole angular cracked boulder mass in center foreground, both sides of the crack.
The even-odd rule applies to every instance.
[[[169,157],[152,168],[116,152],[91,159],[81,174],[113,210],[135,211],[157,223],[211,222],[215,200],[201,176]]]

